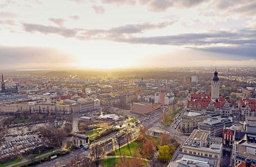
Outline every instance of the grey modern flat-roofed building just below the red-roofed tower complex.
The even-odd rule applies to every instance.
[[[222,137],[223,127],[231,126],[230,119],[222,119],[221,116],[209,117],[203,122],[198,123],[198,129],[209,131],[212,137]]]

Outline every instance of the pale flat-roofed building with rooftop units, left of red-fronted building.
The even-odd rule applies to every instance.
[[[218,159],[216,166],[221,166],[222,139],[211,137],[208,131],[194,129],[182,145],[182,152],[192,156],[213,157]]]

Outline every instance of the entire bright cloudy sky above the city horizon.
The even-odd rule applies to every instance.
[[[256,66],[256,0],[0,0],[0,70]]]

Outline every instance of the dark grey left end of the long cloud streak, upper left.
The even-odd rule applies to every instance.
[[[53,27],[53,26],[44,26],[41,24],[29,24],[23,23],[23,27],[27,32],[40,32],[43,34],[59,34],[64,37],[74,37],[76,36],[76,29],[69,29],[65,27]]]

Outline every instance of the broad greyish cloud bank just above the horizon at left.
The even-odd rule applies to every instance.
[[[0,45],[0,68],[59,67],[72,62],[69,54],[51,47],[14,47]]]

